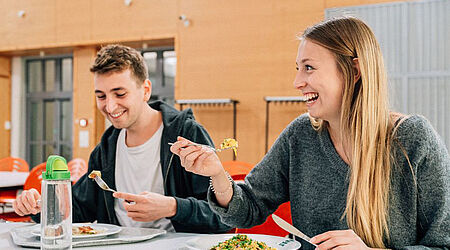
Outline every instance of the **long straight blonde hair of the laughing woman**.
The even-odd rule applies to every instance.
[[[311,40],[336,57],[344,79],[341,137],[350,145],[350,182],[343,217],[370,247],[389,241],[388,203],[393,119],[389,118],[387,78],[380,46],[361,20],[340,17],[308,28],[301,39]],[[360,78],[353,59],[358,58]],[[317,130],[327,127],[311,118]]]

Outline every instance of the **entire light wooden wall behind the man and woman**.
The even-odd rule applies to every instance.
[[[326,8],[381,2],[390,1],[133,0],[125,6],[123,0],[0,0],[4,24],[0,26],[4,38],[0,39],[0,55],[40,49],[73,51],[74,121],[86,116],[95,124],[89,127],[89,149],[78,148],[79,127],[74,125],[74,157],[87,159],[103,129],[88,72],[94,48],[111,42],[132,42],[139,47],[144,41],[150,46],[158,39],[172,41],[178,59],[176,99],[239,100],[238,160],[256,164],[265,152],[264,96],[299,94],[292,87],[296,34],[322,20]],[[25,11],[23,18],[17,16],[19,10]],[[178,19],[180,15],[190,20],[188,27]],[[270,144],[305,110],[303,104],[271,107]],[[194,112],[216,144],[232,136],[230,108],[201,107]],[[231,152],[222,153],[221,159],[231,160]]]

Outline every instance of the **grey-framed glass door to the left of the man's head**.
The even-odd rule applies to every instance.
[[[72,58],[28,59],[27,161],[31,167],[52,154],[72,158]]]

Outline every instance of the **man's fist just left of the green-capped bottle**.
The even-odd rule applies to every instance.
[[[13,202],[14,212],[20,216],[39,213],[41,211],[39,199],[41,195],[36,189],[23,191]]]

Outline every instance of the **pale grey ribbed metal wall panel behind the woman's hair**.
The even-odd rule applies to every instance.
[[[393,110],[430,120],[450,148],[450,1],[428,0],[325,10],[364,20],[380,43]]]

